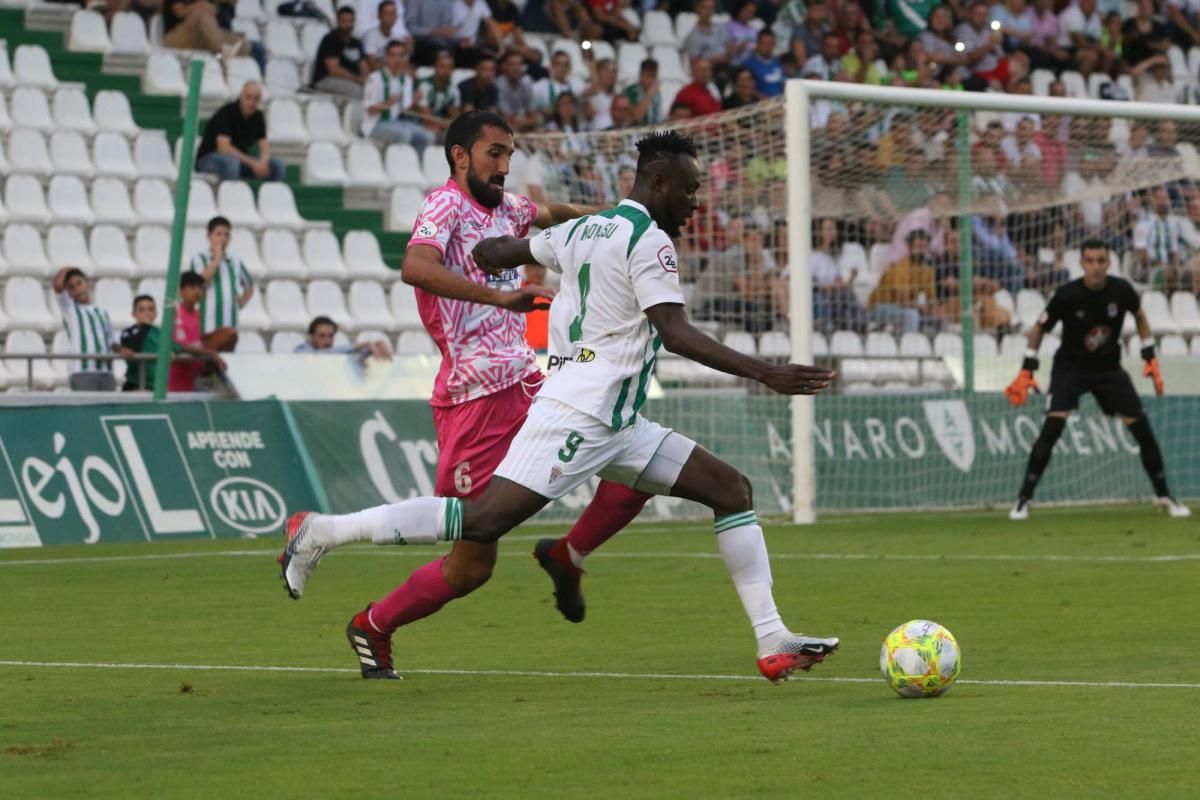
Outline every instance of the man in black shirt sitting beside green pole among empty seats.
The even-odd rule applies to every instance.
[[[196,172],[212,173],[222,180],[283,180],[283,162],[271,158],[266,120],[258,108],[262,101],[263,88],[248,80],[235,102],[217,109],[204,126],[200,149],[196,151]],[[257,150],[258,156],[252,156],[251,150]]]

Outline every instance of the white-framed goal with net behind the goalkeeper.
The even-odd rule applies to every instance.
[[[736,349],[839,372],[832,393],[792,402],[661,354],[647,413],[742,469],[761,511],[804,522],[1008,503],[1042,401],[1012,409],[1000,392],[1093,236],[1156,311],[1171,396],[1147,408],[1172,483],[1200,494],[1182,445],[1200,444],[1188,423],[1200,398],[1181,395],[1200,391],[1186,290],[1200,253],[1200,109],[1120,104],[1136,114],[1111,119],[1100,112],[1115,104],[998,97],[802,82],[786,102],[672,124],[697,142],[706,178],[678,242],[690,317]],[[614,203],[648,131],[522,136],[510,184],[535,200]],[[1140,375],[1135,345],[1127,367]],[[1054,347],[1046,337],[1043,386]],[[1144,497],[1135,452],[1087,401],[1038,499]]]

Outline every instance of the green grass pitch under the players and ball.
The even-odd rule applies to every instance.
[[[582,625],[529,558],[539,529],[517,531],[490,585],[397,634],[404,681],[360,680],[343,627],[431,549],[334,553],[300,602],[278,540],[2,552],[0,794],[1195,796],[1195,522],[1126,506],[767,531],[785,620],[842,639],[781,686],[756,678],[706,525],[610,542]],[[912,618],[962,646],[942,698],[880,678]]]

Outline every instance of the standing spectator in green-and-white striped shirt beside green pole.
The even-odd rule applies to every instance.
[[[209,219],[209,247],[192,257],[187,269],[204,278],[200,333],[204,348],[233,353],[238,347],[238,312],[254,294],[246,265],[228,252],[233,224],[224,217]]]

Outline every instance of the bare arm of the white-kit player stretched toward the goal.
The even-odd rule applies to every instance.
[[[800,363],[769,363],[727,348],[692,326],[678,303],[650,306],[646,315],[662,337],[662,347],[671,353],[730,375],[756,380],[780,395],[816,395],[827,389],[834,378],[832,369]]]

